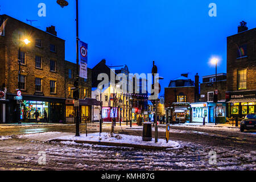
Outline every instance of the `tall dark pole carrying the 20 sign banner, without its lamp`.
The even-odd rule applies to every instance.
[[[79,1],[76,0],[76,81],[79,82]],[[76,85],[76,89],[79,90],[79,85]],[[78,98],[79,100],[79,98]],[[76,107],[76,136],[80,137],[79,133],[79,106]]]

